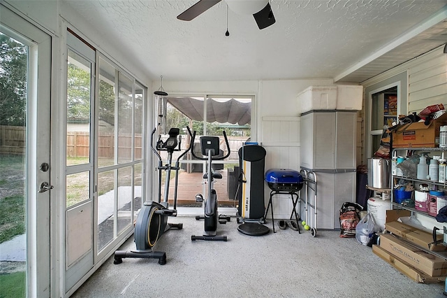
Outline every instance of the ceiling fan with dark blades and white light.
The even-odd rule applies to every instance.
[[[191,21],[198,17],[221,0],[199,0],[183,13],[177,15],[177,19]],[[269,0],[226,0],[228,7],[240,14],[251,14],[258,24],[259,29],[264,29],[274,24],[274,15]]]

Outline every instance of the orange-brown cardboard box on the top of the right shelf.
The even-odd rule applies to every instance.
[[[432,120],[430,125],[414,122],[393,131],[393,148],[434,148],[439,146],[439,127],[447,125],[447,113]]]

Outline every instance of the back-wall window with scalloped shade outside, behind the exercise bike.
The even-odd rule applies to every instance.
[[[230,156],[225,160],[213,162],[214,171],[222,174],[216,180],[220,206],[236,206],[237,174],[239,173],[238,150],[251,138],[251,101],[253,97],[207,96],[207,97],[168,97],[167,129],[179,127],[183,132],[183,147],[189,146],[190,139],[186,134],[186,126],[196,131],[194,152],[199,157],[200,136],[219,136],[219,155],[224,156],[228,150],[223,139],[223,131],[230,143]],[[206,162],[194,158],[191,153],[182,159],[179,173],[178,202],[179,206],[201,206],[196,203],[197,192],[206,195],[203,173]],[[174,183],[170,183],[174,185]],[[163,189],[163,188],[162,188]],[[170,191],[172,202],[173,191]]]

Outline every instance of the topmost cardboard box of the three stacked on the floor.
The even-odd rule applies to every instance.
[[[444,238],[443,235],[437,235],[437,240],[440,243],[435,245],[432,233],[425,232],[417,227],[411,227],[411,225],[405,225],[402,222],[386,222],[385,229],[426,250],[443,251],[447,249],[446,246],[441,244]]]

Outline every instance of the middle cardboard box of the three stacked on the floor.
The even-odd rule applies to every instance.
[[[429,276],[446,276],[447,261],[390,234],[380,235],[380,247]]]

